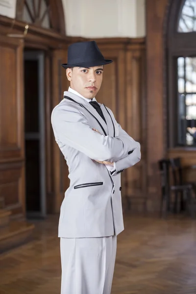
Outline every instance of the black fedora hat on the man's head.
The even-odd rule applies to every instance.
[[[104,59],[95,41],[77,42],[68,47],[68,63],[62,64],[62,67],[93,67],[111,62]]]

